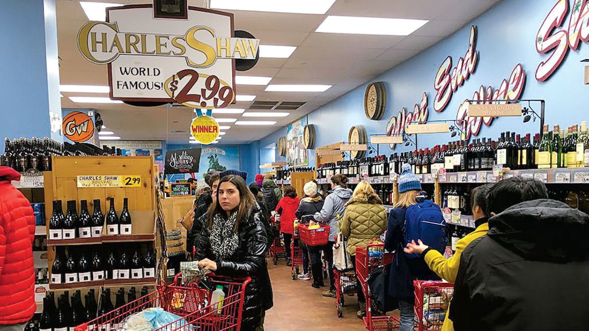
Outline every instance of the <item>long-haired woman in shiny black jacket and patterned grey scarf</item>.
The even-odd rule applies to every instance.
[[[246,287],[241,330],[263,330],[266,310],[273,306],[266,264],[268,249],[262,211],[240,176],[221,178],[207,224],[196,242],[195,260],[220,276],[252,277]]]

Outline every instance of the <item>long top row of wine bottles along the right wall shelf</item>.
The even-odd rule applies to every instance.
[[[581,123],[580,132],[577,125],[567,130],[554,125],[552,131],[544,125],[542,135],[534,135],[533,142],[530,133],[520,135],[507,131],[501,133],[497,141],[477,138],[469,144],[454,141],[431,149],[395,153],[389,157],[378,155],[320,164],[317,178],[335,174],[388,176],[390,173],[401,173],[404,163],[410,164],[415,174],[433,174],[442,168],[448,173],[492,170],[497,164],[511,170],[589,167],[587,122]]]

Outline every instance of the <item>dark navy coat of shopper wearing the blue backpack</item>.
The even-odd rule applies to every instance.
[[[385,250],[395,251],[395,257],[389,273],[389,295],[405,301],[415,300],[413,280],[439,280],[423,260],[423,257],[407,259],[403,248],[405,239],[405,211],[407,208],[395,208],[389,211],[386,226]]]

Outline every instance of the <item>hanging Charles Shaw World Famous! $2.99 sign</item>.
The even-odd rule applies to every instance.
[[[162,19],[152,5],[128,5],[84,24],[78,49],[108,64],[111,99],[211,109],[234,100],[234,59],[256,58],[259,39],[233,35],[230,13],[188,7],[187,19]]]

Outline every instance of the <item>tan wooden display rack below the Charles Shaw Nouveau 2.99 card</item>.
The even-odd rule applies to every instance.
[[[88,212],[92,214],[94,200],[100,199],[102,214],[106,216],[110,208],[110,199],[114,198],[115,211],[120,216],[123,210],[123,200],[128,198],[128,209],[131,214],[132,231],[130,235],[107,236],[105,226],[101,237],[77,238],[69,240],[47,240],[49,279],[51,279],[51,266],[55,259],[56,246],[96,245],[109,243],[153,242],[156,251],[156,261],[159,261],[160,250],[156,243],[156,212],[155,212],[155,170],[153,157],[52,157],[52,171],[44,172],[45,185],[45,215],[46,223],[53,212],[52,201],[61,200],[64,215],[67,213],[67,201],[77,202],[77,213],[80,214],[80,201],[87,200]],[[78,187],[77,176],[137,176],[140,178],[139,186],[133,187]],[[47,226],[47,233],[49,226]],[[111,244],[112,243],[112,244]],[[88,256],[90,257],[90,256]],[[131,257],[131,253],[130,253]],[[103,257],[103,264],[104,264]],[[157,268],[157,266],[156,266]],[[85,289],[120,284],[149,285],[156,282],[155,278],[123,279],[123,280],[98,280],[73,284],[49,284],[49,289]]]

